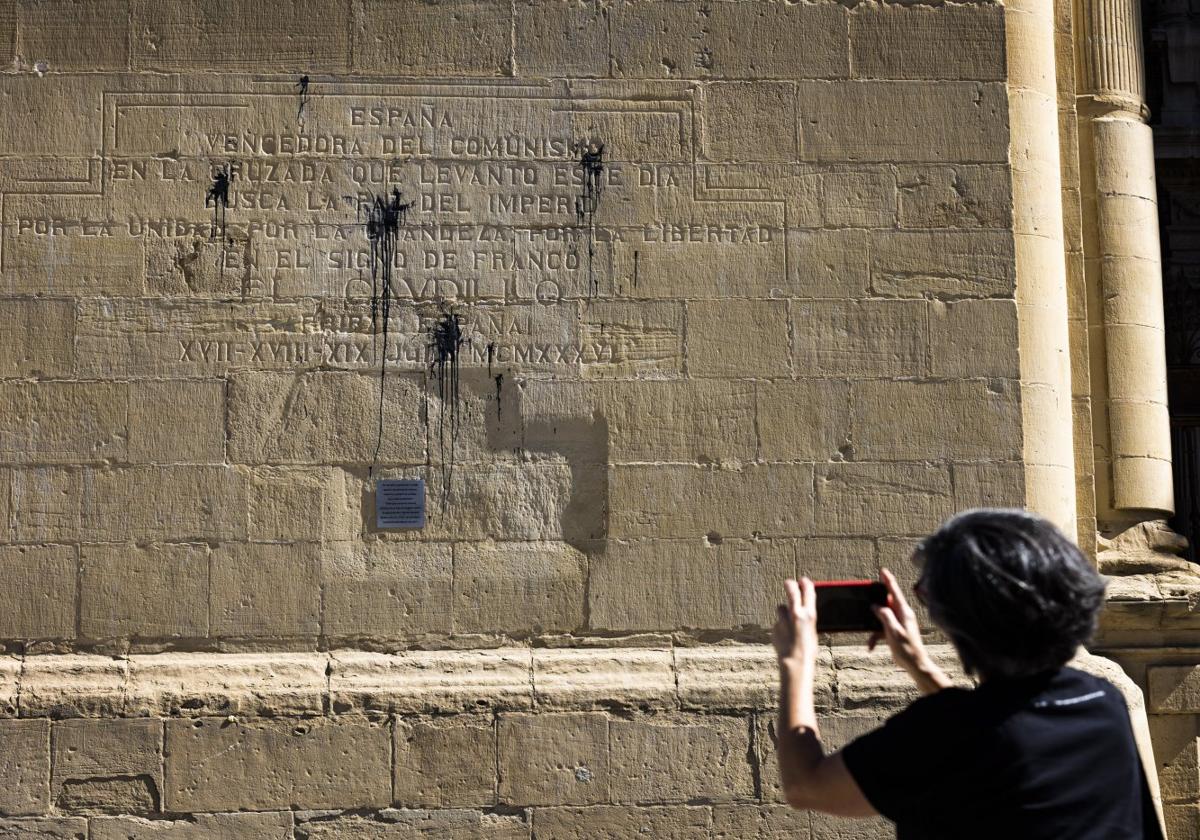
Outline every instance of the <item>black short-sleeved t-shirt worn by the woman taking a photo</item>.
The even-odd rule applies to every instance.
[[[842,757],[899,840],[1158,840],[1129,713],[1058,668],[922,697]]]

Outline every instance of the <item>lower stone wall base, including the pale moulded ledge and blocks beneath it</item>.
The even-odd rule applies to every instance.
[[[912,700],[887,671],[823,658],[827,743]],[[892,834],[782,804],[763,646],[74,654],[0,679],[6,839]]]

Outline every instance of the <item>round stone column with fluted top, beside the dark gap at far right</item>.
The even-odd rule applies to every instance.
[[[1145,559],[1177,540],[1138,0],[1076,0],[1075,35],[1097,528],[1102,562]]]

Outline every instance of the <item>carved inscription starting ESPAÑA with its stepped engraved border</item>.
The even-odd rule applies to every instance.
[[[622,356],[628,341],[583,328],[580,304],[680,284],[706,296],[712,281],[679,270],[684,248],[746,294],[784,274],[785,204],[709,191],[692,94],[678,88],[650,101],[343,83],[305,89],[299,104],[296,90],[288,78],[106,95],[104,155],[86,185],[5,196],[5,286],[304,311],[290,326],[269,317],[235,331],[182,317],[168,337],[146,326],[180,311],[148,304],[118,326],[133,310],[85,306],[80,341],[136,367],[419,367],[428,319],[456,306],[462,364],[554,368],[636,361]],[[366,210],[392,191],[408,211],[382,266]],[[386,331],[367,326],[373,270],[388,277]],[[126,329],[152,361],[121,346]]]

